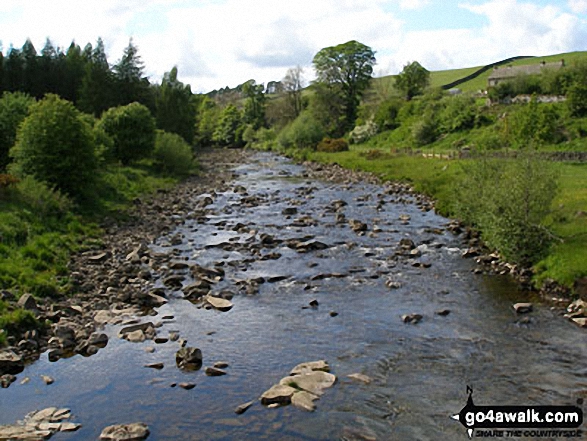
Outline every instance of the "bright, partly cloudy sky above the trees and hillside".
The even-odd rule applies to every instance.
[[[298,65],[311,81],[314,55],[350,40],[375,51],[376,76],[587,50],[587,0],[0,0],[4,54],[27,38],[40,52],[47,38],[66,50],[98,37],[111,64],[132,38],[151,82],[177,66],[208,92]]]

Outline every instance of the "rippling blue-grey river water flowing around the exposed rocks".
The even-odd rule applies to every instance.
[[[465,405],[468,385],[478,405],[574,405],[585,395],[585,332],[546,305],[516,315],[513,303],[535,299],[507,277],[473,274],[475,263],[461,257],[465,245],[446,231],[446,218],[380,186],[308,181],[303,173],[259,154],[235,169],[232,185],[247,195],[242,189],[212,195],[205,222],[189,220],[172,233],[184,236],[172,247],[176,258],[204,267],[225,263],[216,290],[237,292],[236,282],[246,279],[278,280],[260,284],[255,295],[237,292],[224,313],[168,290],[169,303],[145,318],[173,316],[158,335],[178,331],[202,350],[204,367],[229,363],[227,375],[182,372],[175,366],[177,342],[129,343],[116,337],[119,327],[107,326],[110,342],[98,354],[55,363],[44,355],[19,375],[30,382],[0,390],[0,424],[58,406],[72,409],[82,428],[55,440],[97,439],[107,425],[137,421],[155,440],[464,440],[464,428],[450,416]],[[257,199],[249,207],[251,196]],[[336,200],[348,204],[338,213],[366,223],[367,234],[336,222]],[[283,215],[288,207],[297,214]],[[296,222],[304,216],[315,225]],[[233,231],[238,223],[257,234]],[[261,254],[281,257],[259,260],[261,233],[278,239]],[[300,253],[279,243],[306,236],[328,248]],[[403,238],[422,255],[397,256]],[[153,250],[169,251],[168,239]],[[389,288],[388,280],[398,287]],[[307,307],[312,300],[317,308]],[[401,316],[409,313],[423,318],[406,324]],[[145,351],[149,346],[154,353]],[[295,365],[321,359],[338,382],[315,412],[260,405],[259,396]],[[143,367],[154,362],[165,367]],[[347,377],[353,373],[372,382]],[[40,375],[55,383],[46,386]],[[196,387],[170,387],[182,381]],[[257,402],[246,413],[235,414],[251,400]]]

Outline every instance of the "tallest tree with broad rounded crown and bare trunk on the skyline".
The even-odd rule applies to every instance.
[[[349,41],[338,46],[321,49],[314,56],[314,68],[318,82],[331,86],[342,96],[344,119],[341,130],[354,127],[360,98],[369,85],[375,52],[357,41]]]

